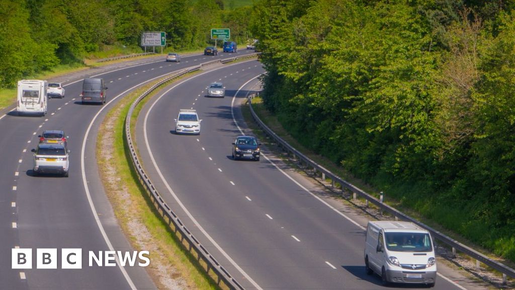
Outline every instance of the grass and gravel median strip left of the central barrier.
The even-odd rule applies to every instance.
[[[102,183],[132,247],[150,252],[147,269],[158,288],[218,289],[160,219],[132,167],[124,136],[125,117],[130,104],[149,86],[126,96],[102,122],[96,144]]]

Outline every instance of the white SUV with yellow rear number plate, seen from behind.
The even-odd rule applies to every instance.
[[[34,153],[33,175],[40,173],[58,173],[68,177],[70,169],[70,158],[63,144],[39,143],[37,149],[31,150]]]

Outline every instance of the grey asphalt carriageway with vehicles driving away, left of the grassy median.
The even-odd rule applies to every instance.
[[[247,52],[238,53],[239,55]],[[64,99],[49,100],[46,117],[16,116],[10,112],[0,119],[0,153],[3,166],[0,173],[0,288],[1,289],[155,289],[144,268],[126,267],[127,275],[119,267],[89,267],[88,251],[109,250],[109,241],[115,250],[132,250],[119,228],[112,208],[100,183],[95,158],[96,131],[106,112],[127,93],[129,88],[147,82],[160,75],[193,66],[217,57],[194,55],[183,57],[180,63],[163,60],[142,63],[127,68],[103,72],[109,87],[108,101],[119,98],[106,106],[82,105],[78,95],[81,82],[66,83]],[[95,70],[90,75],[95,75]],[[82,77],[82,76],[81,76]],[[104,108],[102,110],[102,108]],[[87,140],[84,142],[85,184],[91,194],[86,194],[82,182],[81,151],[85,133],[91,120]],[[32,153],[42,130],[64,130],[70,139],[70,177],[32,176]],[[95,214],[92,212],[95,206]],[[105,230],[99,230],[98,223]],[[83,253],[82,269],[11,269],[11,249],[37,248],[58,249],[58,259],[63,248],[80,248]],[[34,257],[35,259],[35,257]],[[84,261],[85,260],[85,261]]]

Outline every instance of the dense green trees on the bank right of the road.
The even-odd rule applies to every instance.
[[[265,105],[305,146],[515,261],[514,9],[260,0]]]

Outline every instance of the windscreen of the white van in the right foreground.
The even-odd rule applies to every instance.
[[[433,246],[427,233],[385,233],[386,248],[397,252],[431,252]]]

